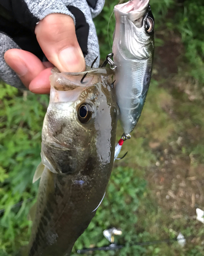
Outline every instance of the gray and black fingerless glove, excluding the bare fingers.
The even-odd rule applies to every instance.
[[[6,64],[4,53],[9,49],[18,48],[28,50],[43,60],[44,56],[35,38],[34,30],[36,23],[51,13],[63,13],[73,18],[86,64],[90,66],[99,56],[92,18],[101,12],[104,3],[105,0],[0,0],[0,8],[3,8],[8,17],[8,19],[2,17],[0,10],[0,77],[11,86],[25,88],[15,72]],[[82,23],[85,24],[84,30]],[[12,31],[16,32],[16,29],[20,31],[19,37],[16,33],[12,33]],[[98,65],[99,58],[94,66]]]

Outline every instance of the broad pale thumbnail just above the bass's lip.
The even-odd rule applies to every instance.
[[[82,72],[86,67],[81,49],[75,47],[62,50],[59,54],[59,60],[66,72]]]

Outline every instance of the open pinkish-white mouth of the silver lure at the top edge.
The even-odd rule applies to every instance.
[[[138,19],[146,13],[149,0],[132,0],[124,4],[116,5],[115,10],[129,16],[131,20]]]

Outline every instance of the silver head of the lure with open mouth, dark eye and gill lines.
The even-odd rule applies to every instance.
[[[133,0],[116,5],[114,12],[116,29],[113,52],[118,47],[125,59],[143,60],[151,57],[154,53],[155,20],[149,0]]]

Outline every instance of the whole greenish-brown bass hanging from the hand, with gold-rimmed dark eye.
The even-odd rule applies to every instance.
[[[53,71],[29,256],[70,255],[104,198],[118,117],[112,76],[106,68]]]

